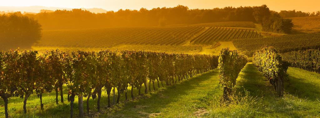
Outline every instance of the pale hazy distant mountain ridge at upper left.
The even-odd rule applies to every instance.
[[[44,6],[23,6],[23,7],[16,7],[16,6],[0,6],[0,12],[16,12],[21,11],[21,13],[25,12],[31,12],[31,13],[39,13],[40,10],[72,10],[73,8],[61,8],[61,7],[44,7]],[[101,9],[101,8],[81,8],[82,10],[87,10],[92,13],[105,13],[107,10]]]

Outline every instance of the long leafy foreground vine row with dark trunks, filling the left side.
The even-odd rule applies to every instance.
[[[100,98],[102,90],[108,93],[108,107],[110,107],[110,92],[115,88],[118,91],[116,103],[119,103],[120,93],[127,88],[140,89],[142,84],[146,86],[148,93],[151,82],[153,87],[157,81],[167,85],[192,77],[217,68],[218,56],[212,55],[188,55],[167,54],[146,51],[109,51],[99,52],[61,52],[50,50],[38,55],[37,51],[10,50],[0,52],[1,63],[1,98],[5,101],[5,116],[8,118],[8,98],[24,98],[24,113],[27,113],[26,104],[28,97],[34,92],[40,98],[40,106],[43,109],[42,94],[56,92],[58,104],[58,92],[62,85],[67,85],[68,101],[70,101],[73,117],[73,102],[75,96],[79,101],[79,116],[83,117],[83,97],[87,97],[87,112],[89,113],[88,100],[98,97],[98,112],[100,111]],[[22,70],[22,71],[19,71]],[[175,80],[174,80],[175,79]],[[154,87],[155,88],[155,87]],[[151,90],[151,89],[150,89]],[[115,91],[113,91],[115,97]],[[98,95],[97,95],[98,94]],[[60,91],[63,103],[63,92]],[[134,98],[131,93],[131,97]],[[115,100],[115,99],[114,99]],[[82,107],[81,107],[82,106]]]

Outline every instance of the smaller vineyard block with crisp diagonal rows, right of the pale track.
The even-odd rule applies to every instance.
[[[209,27],[204,32],[190,40],[191,42],[211,44],[217,41],[232,41],[232,39],[259,38],[260,33],[247,28]]]

